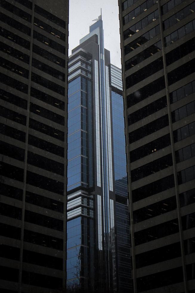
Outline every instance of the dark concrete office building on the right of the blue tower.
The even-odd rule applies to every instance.
[[[195,292],[195,2],[119,1],[134,292]]]

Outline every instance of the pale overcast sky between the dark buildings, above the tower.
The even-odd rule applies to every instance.
[[[111,63],[121,68],[120,33],[117,0],[69,0],[69,55],[79,40],[89,33],[89,25],[102,8],[104,47],[110,51]]]

